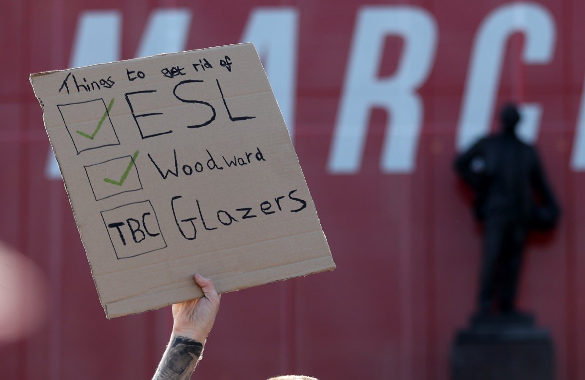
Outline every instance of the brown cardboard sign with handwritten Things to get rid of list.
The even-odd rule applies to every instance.
[[[30,82],[106,316],[335,268],[253,44]]]

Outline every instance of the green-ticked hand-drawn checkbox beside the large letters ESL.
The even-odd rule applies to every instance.
[[[103,98],[98,98],[57,105],[77,154],[85,150],[120,144],[109,117],[114,104],[114,98],[108,100],[108,105]]]

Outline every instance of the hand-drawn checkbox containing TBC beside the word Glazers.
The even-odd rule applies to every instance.
[[[118,260],[167,247],[150,201],[128,203],[102,211],[101,215]]]

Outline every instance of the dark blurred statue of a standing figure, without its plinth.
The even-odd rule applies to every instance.
[[[520,141],[517,108],[504,106],[501,131],[477,141],[455,160],[476,196],[474,211],[484,223],[479,315],[515,312],[522,250],[530,229],[551,229],[559,206],[536,148]]]

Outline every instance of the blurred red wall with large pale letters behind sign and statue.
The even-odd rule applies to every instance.
[[[481,255],[452,161],[510,100],[563,208],[529,239],[519,306],[551,331],[557,378],[585,378],[583,15],[578,0],[3,0],[0,240],[36,268],[15,285],[29,306],[0,311],[0,330],[32,326],[3,335],[0,377],[147,379],[171,329],[168,308],[105,318],[29,74],[251,41],[338,268],[223,296],[194,378],[448,379]]]

